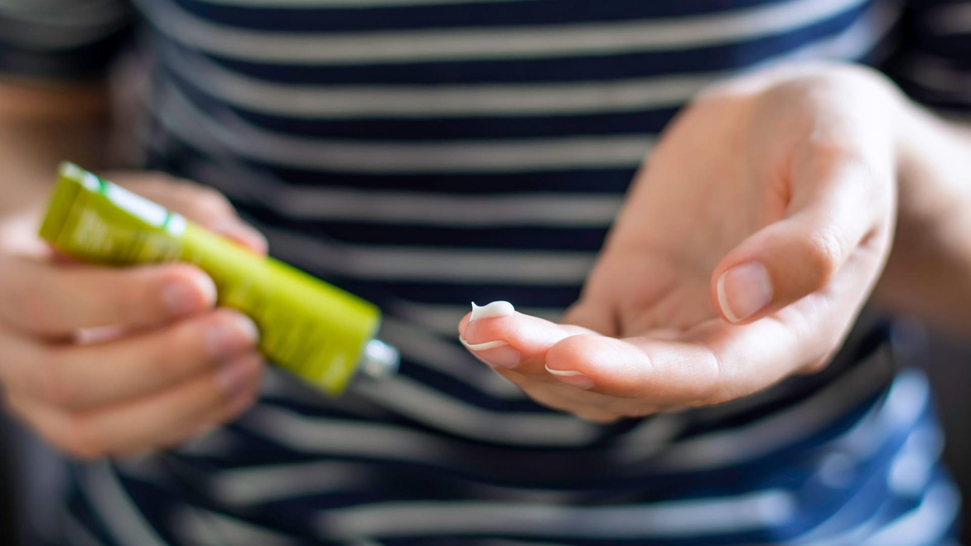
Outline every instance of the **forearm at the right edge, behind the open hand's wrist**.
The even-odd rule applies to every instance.
[[[971,333],[971,130],[903,107],[896,240],[875,302]]]

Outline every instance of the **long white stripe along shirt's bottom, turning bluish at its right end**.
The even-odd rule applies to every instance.
[[[492,502],[386,502],[318,515],[324,536],[421,536],[491,533],[597,538],[704,536],[773,528],[794,509],[782,490],[646,505],[549,506]]]

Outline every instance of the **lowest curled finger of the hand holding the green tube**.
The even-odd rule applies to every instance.
[[[164,392],[86,413],[69,412],[22,394],[10,396],[9,401],[31,426],[76,457],[132,453],[179,441],[245,409],[263,363],[250,355],[226,366]],[[225,383],[229,375],[231,386]]]

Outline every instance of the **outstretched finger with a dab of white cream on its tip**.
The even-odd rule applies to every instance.
[[[473,304],[459,323],[459,340],[473,355],[495,368],[546,375],[547,350],[557,341],[591,333],[582,326],[555,324],[516,312],[508,301]]]

